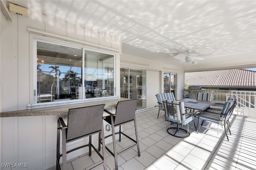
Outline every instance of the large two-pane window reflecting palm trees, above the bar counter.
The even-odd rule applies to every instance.
[[[115,96],[114,55],[34,41],[34,103]]]

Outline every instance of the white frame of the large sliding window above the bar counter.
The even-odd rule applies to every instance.
[[[44,43],[50,43],[54,45],[62,45],[66,47],[72,47],[76,49],[82,50],[82,87],[85,87],[84,81],[85,81],[85,51],[92,51],[92,52],[98,52],[98,53],[104,53],[108,55],[113,55],[114,61],[113,61],[113,69],[114,69],[114,94],[113,96],[102,96],[100,98],[86,98],[84,95],[85,88],[82,88],[82,99],[76,99],[76,100],[66,100],[66,101],[53,101],[53,102],[43,102],[43,103],[37,103],[37,42],[44,42]],[[79,104],[84,102],[94,102],[94,101],[101,101],[101,100],[112,100],[117,99],[119,96],[116,96],[116,53],[113,53],[112,51],[106,51],[101,50],[99,48],[94,49],[87,47],[86,45],[80,45],[79,43],[71,43],[66,40],[60,40],[60,39],[54,39],[50,37],[40,36],[40,35],[32,35],[30,36],[30,104],[27,105],[27,109],[34,109],[34,108],[41,108],[41,107],[50,107],[50,106],[61,106],[61,105],[68,105],[68,104]]]

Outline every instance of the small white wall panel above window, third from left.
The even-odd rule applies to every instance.
[[[85,41],[85,28],[73,23],[68,24],[68,37]]]

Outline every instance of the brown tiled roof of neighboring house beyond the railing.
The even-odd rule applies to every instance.
[[[201,86],[256,87],[256,71],[233,69],[185,73],[185,83]]]

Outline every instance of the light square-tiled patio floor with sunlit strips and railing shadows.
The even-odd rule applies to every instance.
[[[164,111],[158,109],[136,114],[141,156],[137,147],[118,156],[119,170],[252,170],[256,169],[256,118],[234,115],[230,122],[229,141],[224,128],[214,123],[204,123],[185,139],[167,133],[170,122],[164,121]],[[196,121],[197,123],[197,121]],[[185,129],[187,126],[185,127]],[[135,138],[134,126],[126,124],[123,131]],[[121,150],[131,143],[126,137],[117,143]],[[100,161],[96,152],[79,156],[68,162],[68,170],[84,170]],[[114,170],[114,158],[107,154],[108,170]],[[53,170],[50,168],[49,170]],[[98,168],[103,169],[103,166]]]

